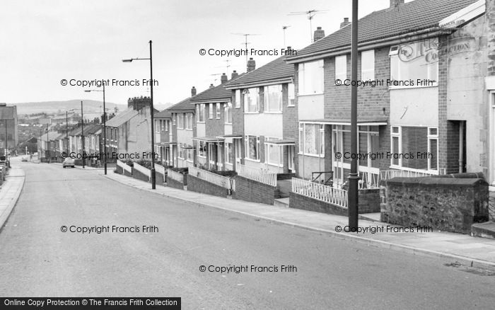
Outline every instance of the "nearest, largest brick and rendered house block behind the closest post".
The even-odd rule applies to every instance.
[[[359,20],[358,80],[368,81],[358,89],[358,149],[368,154],[359,160],[363,184],[376,185],[388,171],[426,175],[482,168],[480,103],[470,91],[480,78],[467,70],[473,66],[467,57],[480,52],[482,40],[474,33],[483,28],[483,14],[484,1],[391,0],[389,8]],[[474,39],[465,38],[466,31]],[[295,65],[295,165],[303,178],[323,169],[333,171],[334,184],[347,181],[350,42],[351,25],[344,21],[336,32],[287,57]],[[470,111],[459,113],[466,106]]]

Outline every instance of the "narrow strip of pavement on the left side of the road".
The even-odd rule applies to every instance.
[[[0,187],[0,230],[16,206],[24,186],[25,174],[16,163],[11,163],[7,178]]]

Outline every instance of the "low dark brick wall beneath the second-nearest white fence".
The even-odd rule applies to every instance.
[[[242,176],[235,176],[235,191],[232,197],[238,200],[273,205],[275,199],[280,197],[280,194],[279,189],[274,186]]]

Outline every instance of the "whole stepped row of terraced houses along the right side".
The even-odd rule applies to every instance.
[[[494,183],[494,6],[391,0],[359,20],[359,81],[348,18],[297,54],[257,69],[250,59],[155,115],[159,161],[188,190],[342,212],[359,82],[360,212],[379,211],[379,182],[395,176],[482,172]]]

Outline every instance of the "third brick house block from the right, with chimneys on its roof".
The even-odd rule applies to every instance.
[[[237,77],[234,71],[232,79]],[[190,101],[196,109],[195,166],[205,170],[234,170],[233,145],[239,136],[232,134],[232,92],[225,87],[227,81],[222,74],[219,86],[211,85]]]

